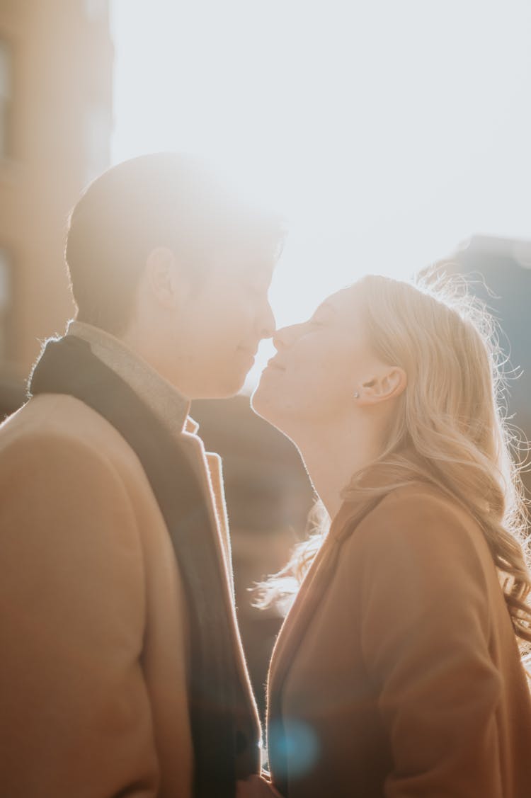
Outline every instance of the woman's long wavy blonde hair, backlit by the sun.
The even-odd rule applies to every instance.
[[[504,359],[497,324],[462,276],[442,264],[413,282],[367,275],[356,283],[374,354],[406,371],[407,388],[376,460],[356,472],[343,500],[372,502],[422,480],[478,521],[500,576],[522,650],[531,643],[528,516],[518,437],[505,420]],[[318,503],[310,537],[258,588],[258,606],[290,602],[317,555],[330,519]]]

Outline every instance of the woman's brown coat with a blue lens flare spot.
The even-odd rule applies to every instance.
[[[287,798],[529,798],[531,701],[481,529],[434,488],[343,504],[280,632]]]

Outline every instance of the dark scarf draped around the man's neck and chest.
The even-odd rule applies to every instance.
[[[137,394],[81,338],[46,345],[30,393],[66,393],[100,413],[136,452],[168,527],[187,597],[195,798],[233,798],[258,767],[255,714],[242,687],[212,524],[180,446]],[[238,729],[236,729],[238,726]],[[176,751],[176,757],[179,752]]]

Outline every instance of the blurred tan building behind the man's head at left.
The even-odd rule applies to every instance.
[[[65,224],[109,164],[112,68],[109,0],[1,0],[0,374],[11,386],[73,314]]]

